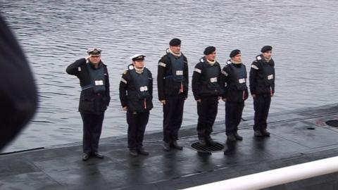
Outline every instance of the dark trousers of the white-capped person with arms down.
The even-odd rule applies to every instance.
[[[128,148],[139,149],[143,146],[144,130],[149,120],[149,111],[127,111]]]

